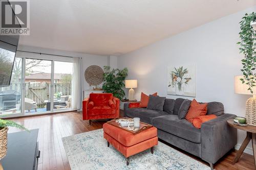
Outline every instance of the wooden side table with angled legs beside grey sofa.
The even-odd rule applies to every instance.
[[[238,153],[236,155],[236,157],[234,158],[234,162],[238,162],[238,159],[240,158],[240,156],[242,155],[242,153],[244,152],[246,146],[248,145],[248,143],[250,142],[250,140],[252,141],[252,150],[253,150],[253,156],[254,156],[254,165],[256,167],[256,127],[255,126],[238,126],[235,125],[233,122],[233,119],[228,119],[227,123],[229,126],[236,128],[236,129],[240,129],[243,131],[246,131],[246,138],[244,139],[240,149],[238,150]]]

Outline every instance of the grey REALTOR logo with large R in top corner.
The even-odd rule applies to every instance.
[[[29,1],[0,2],[0,35],[29,35]]]

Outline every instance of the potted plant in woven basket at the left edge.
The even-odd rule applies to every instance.
[[[0,116],[1,117],[1,116]],[[19,125],[11,120],[5,120],[0,118],[0,160],[7,154],[7,131],[8,127],[15,127],[18,129],[23,129],[29,132],[27,128],[23,125]],[[1,168],[1,164],[0,164]]]

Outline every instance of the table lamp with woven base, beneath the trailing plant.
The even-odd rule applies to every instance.
[[[249,86],[243,84],[240,79],[243,79],[244,76],[235,76],[234,77],[234,91],[237,94],[250,94],[253,95],[252,98],[249,98],[246,101],[246,122],[248,125],[256,126],[256,87],[252,88],[253,93],[250,90],[247,90]]]

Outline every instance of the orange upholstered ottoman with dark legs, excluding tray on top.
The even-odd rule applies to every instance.
[[[130,156],[150,148],[153,154],[154,146],[158,144],[157,128],[155,127],[134,135],[131,132],[105,123],[103,132],[104,138],[108,141],[108,147],[111,143],[116,150],[122,153],[126,158],[127,165],[129,165]]]

